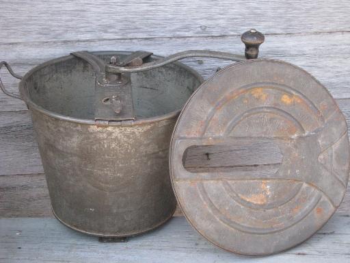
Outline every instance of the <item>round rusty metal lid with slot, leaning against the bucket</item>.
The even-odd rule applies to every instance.
[[[232,64],[187,101],[172,184],[191,225],[245,255],[291,248],[334,214],[349,179],[347,124],[326,88],[278,60]]]

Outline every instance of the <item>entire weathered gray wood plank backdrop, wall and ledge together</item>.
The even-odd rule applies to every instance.
[[[240,34],[265,33],[260,57],[301,66],[325,85],[350,124],[350,2],[2,0],[0,60],[24,75],[72,51],[187,49],[243,54]],[[204,77],[230,62],[185,60]],[[13,92],[18,82],[1,70]],[[332,219],[310,240],[278,255],[221,251],[185,218],[126,243],[100,243],[53,218],[44,171],[22,101],[0,93],[0,262],[350,262],[350,188]],[[176,212],[181,216],[181,212]]]

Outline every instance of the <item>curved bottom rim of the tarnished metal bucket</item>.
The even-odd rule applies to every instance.
[[[57,214],[55,214],[55,211],[53,210],[53,208],[51,207],[51,210],[53,212],[53,215],[55,216],[55,218],[57,218],[57,220],[62,223],[63,225],[65,225],[66,227],[69,227],[70,229],[73,229],[75,231],[78,231],[80,233],[83,233],[83,234],[87,234],[89,236],[98,236],[100,238],[126,238],[126,237],[131,237],[131,236],[138,236],[138,235],[141,235],[141,234],[145,234],[147,233],[148,231],[152,231],[153,229],[156,229],[157,227],[160,227],[161,225],[163,225],[166,221],[168,221],[172,215],[174,214],[175,210],[176,210],[176,207],[175,209],[170,213],[170,216],[168,216],[167,218],[165,218],[165,220],[161,221],[160,223],[158,223],[157,225],[154,225],[148,229],[145,229],[145,230],[142,230],[142,231],[139,231],[139,232],[133,232],[133,233],[128,233],[128,234],[99,234],[97,232],[89,232],[89,231],[85,231],[83,229],[79,229],[77,227],[73,227],[72,225],[69,225],[68,223],[64,222],[61,218],[59,218],[57,216]]]

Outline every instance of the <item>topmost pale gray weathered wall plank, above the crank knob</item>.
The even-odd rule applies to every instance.
[[[1,1],[0,42],[349,30],[347,0]]]

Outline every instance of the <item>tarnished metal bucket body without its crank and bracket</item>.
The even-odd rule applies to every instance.
[[[131,55],[93,54],[107,64],[111,56],[123,60]],[[145,60],[159,58],[148,55]],[[94,118],[95,69],[68,55],[33,68],[20,83],[53,213],[85,234],[141,234],[167,221],[176,208],[168,167],[170,138],[178,112],[202,77],[178,62],[131,73],[135,118],[106,123]]]

